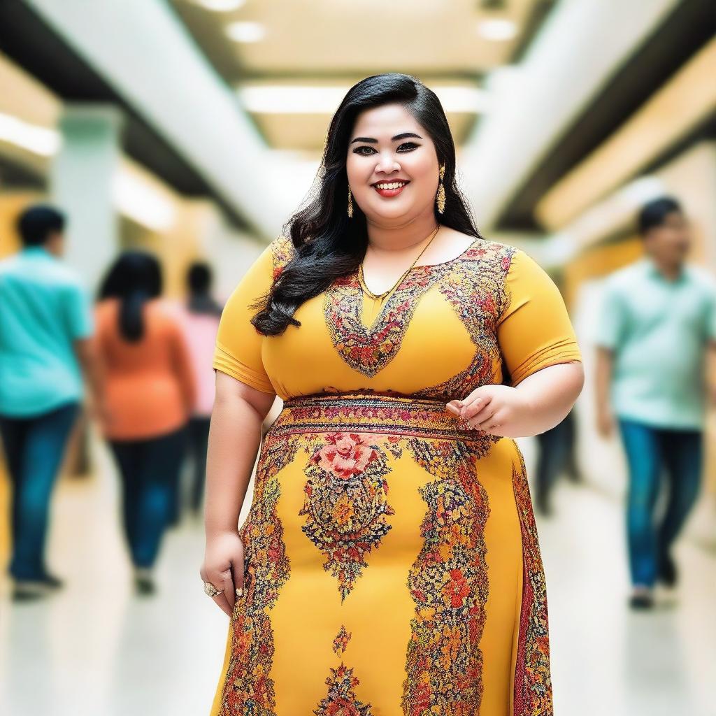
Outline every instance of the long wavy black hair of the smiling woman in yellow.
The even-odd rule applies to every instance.
[[[435,211],[437,223],[481,238],[468,202],[455,183],[455,142],[448,119],[432,89],[410,74],[387,72],[362,79],[348,90],[331,120],[323,164],[316,174],[310,203],[294,213],[284,226],[296,255],[286,263],[271,291],[252,308],[251,319],[266,336],[279,335],[289,324],[300,326],[296,309],[325,291],[339,276],[356,271],[368,246],[365,214],[354,203],[347,215],[348,177],[346,154],[351,132],[360,112],[398,102],[430,135],[438,163],[445,165],[445,211]]]

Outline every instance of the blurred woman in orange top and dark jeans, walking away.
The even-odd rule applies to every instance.
[[[155,591],[153,566],[171,521],[195,387],[178,321],[158,298],[157,259],[127,251],[100,289],[97,344],[110,419],[102,425],[122,478],[122,518],[138,594]]]

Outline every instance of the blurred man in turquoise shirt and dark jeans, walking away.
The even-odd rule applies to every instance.
[[[60,261],[64,216],[50,206],[18,222],[24,248],[0,261],[0,435],[13,488],[9,574],[14,598],[62,585],[44,563],[49,500],[82,400],[84,372],[102,410],[92,313]]]

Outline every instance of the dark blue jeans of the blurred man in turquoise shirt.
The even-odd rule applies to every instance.
[[[12,556],[14,579],[42,579],[49,503],[67,439],[79,410],[78,402],[34,417],[0,415],[12,483]]]

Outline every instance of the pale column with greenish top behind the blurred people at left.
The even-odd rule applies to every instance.
[[[67,213],[65,258],[92,291],[119,251],[113,187],[122,125],[122,113],[109,105],[69,105],[59,122],[51,193]]]

